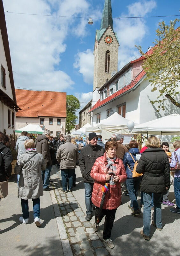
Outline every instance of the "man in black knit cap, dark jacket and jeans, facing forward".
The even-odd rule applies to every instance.
[[[94,180],[91,178],[91,169],[96,161],[96,159],[100,156],[104,155],[104,149],[97,145],[98,137],[95,132],[89,133],[89,145],[83,147],[81,149],[79,155],[79,167],[81,170],[81,174],[84,180],[84,188],[85,188],[85,203],[86,203],[86,220],[91,220],[92,218],[92,192]]]

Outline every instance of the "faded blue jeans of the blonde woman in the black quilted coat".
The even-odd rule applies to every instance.
[[[154,194],[154,223],[158,228],[162,228],[161,195],[162,194]],[[153,193],[147,194],[144,192],[143,233],[146,236],[150,236],[152,198]]]

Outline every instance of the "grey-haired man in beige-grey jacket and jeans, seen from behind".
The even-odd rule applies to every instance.
[[[56,159],[60,163],[62,191],[67,193],[67,179],[69,179],[69,192],[72,191],[73,177],[79,153],[76,145],[71,143],[71,135],[65,135],[64,141],[65,143],[57,150]]]

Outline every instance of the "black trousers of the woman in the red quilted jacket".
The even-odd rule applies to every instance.
[[[114,222],[114,219],[115,219],[116,210],[117,210],[117,208],[113,209],[113,210],[102,209],[102,211],[101,211],[99,220],[101,221],[102,218],[104,216],[106,216],[105,221],[104,221],[104,231],[103,231],[103,238],[104,238],[104,240],[109,239],[111,237],[111,230],[113,228],[113,222]],[[98,214],[99,214],[99,208],[96,207],[95,222],[97,221]]]

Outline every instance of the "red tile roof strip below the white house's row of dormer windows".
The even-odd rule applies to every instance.
[[[109,97],[107,97],[104,100],[98,100],[96,102],[96,104],[89,110],[88,113],[94,111],[96,108],[99,108],[105,104],[107,104],[109,101],[115,99],[116,97],[120,96],[121,94],[123,94],[124,92],[129,91],[130,89],[132,89],[142,78],[143,76],[146,75],[146,72],[144,71],[144,69],[135,77],[134,80],[131,81],[130,84],[127,84],[126,86],[124,86],[121,90],[113,93],[112,95],[110,95]]]

